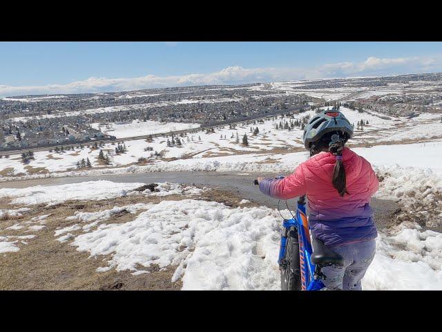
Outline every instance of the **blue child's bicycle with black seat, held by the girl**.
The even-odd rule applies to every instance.
[[[258,180],[254,180],[253,184],[258,185]],[[280,214],[284,219],[278,256],[281,290],[320,291],[325,288],[323,280],[326,278],[321,272],[322,268],[331,265],[343,266],[343,257],[327,248],[323,241],[311,239],[305,210],[305,195],[300,196],[297,203],[296,215],[289,210],[292,219],[285,219]]]

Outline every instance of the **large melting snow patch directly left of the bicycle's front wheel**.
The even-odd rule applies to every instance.
[[[184,289],[278,289],[278,237],[274,210],[183,200],[151,205],[134,221],[81,234],[72,244],[92,256],[112,254],[117,270],[186,266]]]

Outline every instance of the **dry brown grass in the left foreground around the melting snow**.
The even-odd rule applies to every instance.
[[[35,234],[37,236],[34,239],[27,239],[27,244],[17,242],[20,248],[18,252],[0,255],[0,290],[179,290],[182,282],[180,280],[171,282],[176,266],[169,266],[166,269],[151,266],[148,268],[149,273],[141,275],[131,275],[131,271],[117,272],[115,268],[106,272],[97,272],[98,267],[107,266],[111,255],[89,257],[88,253],[79,252],[75,246],[70,246],[70,241],[64,243],[56,241],[54,232],[57,228],[78,223],[78,221],[66,221],[66,217],[72,216],[75,211],[95,212],[135,203],[159,203],[164,200],[190,198],[218,201],[231,207],[239,206],[242,200],[240,196],[231,192],[209,190],[200,196],[134,195],[103,201],[68,201],[49,208],[44,204],[32,205],[30,206],[32,210],[21,217],[19,224],[25,226],[21,230],[5,230],[17,221],[0,222],[0,235]],[[26,232],[31,225],[30,219],[42,214],[51,214],[44,219],[46,228],[37,232]],[[112,216],[106,220],[106,223],[126,223],[136,216],[137,214],[123,212]],[[73,234],[81,233],[77,231]],[[140,269],[143,268],[140,266]]]

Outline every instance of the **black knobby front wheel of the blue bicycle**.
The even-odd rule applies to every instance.
[[[285,247],[285,264],[281,268],[281,290],[300,291],[301,271],[299,262],[298,232],[290,230]]]

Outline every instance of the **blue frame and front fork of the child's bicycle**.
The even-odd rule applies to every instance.
[[[291,227],[296,227],[298,230],[298,242],[299,242],[299,261],[300,261],[300,273],[301,273],[301,290],[302,291],[318,291],[324,288],[324,284],[320,279],[315,278],[315,264],[311,264],[310,257],[313,252],[311,247],[309,224],[307,221],[307,214],[305,212],[305,197],[300,197],[298,200],[298,209],[296,210],[296,217],[294,219],[286,219],[282,223],[286,232],[289,234]],[[281,237],[280,252],[278,258],[278,264],[285,255],[285,246],[287,243],[287,237]]]

